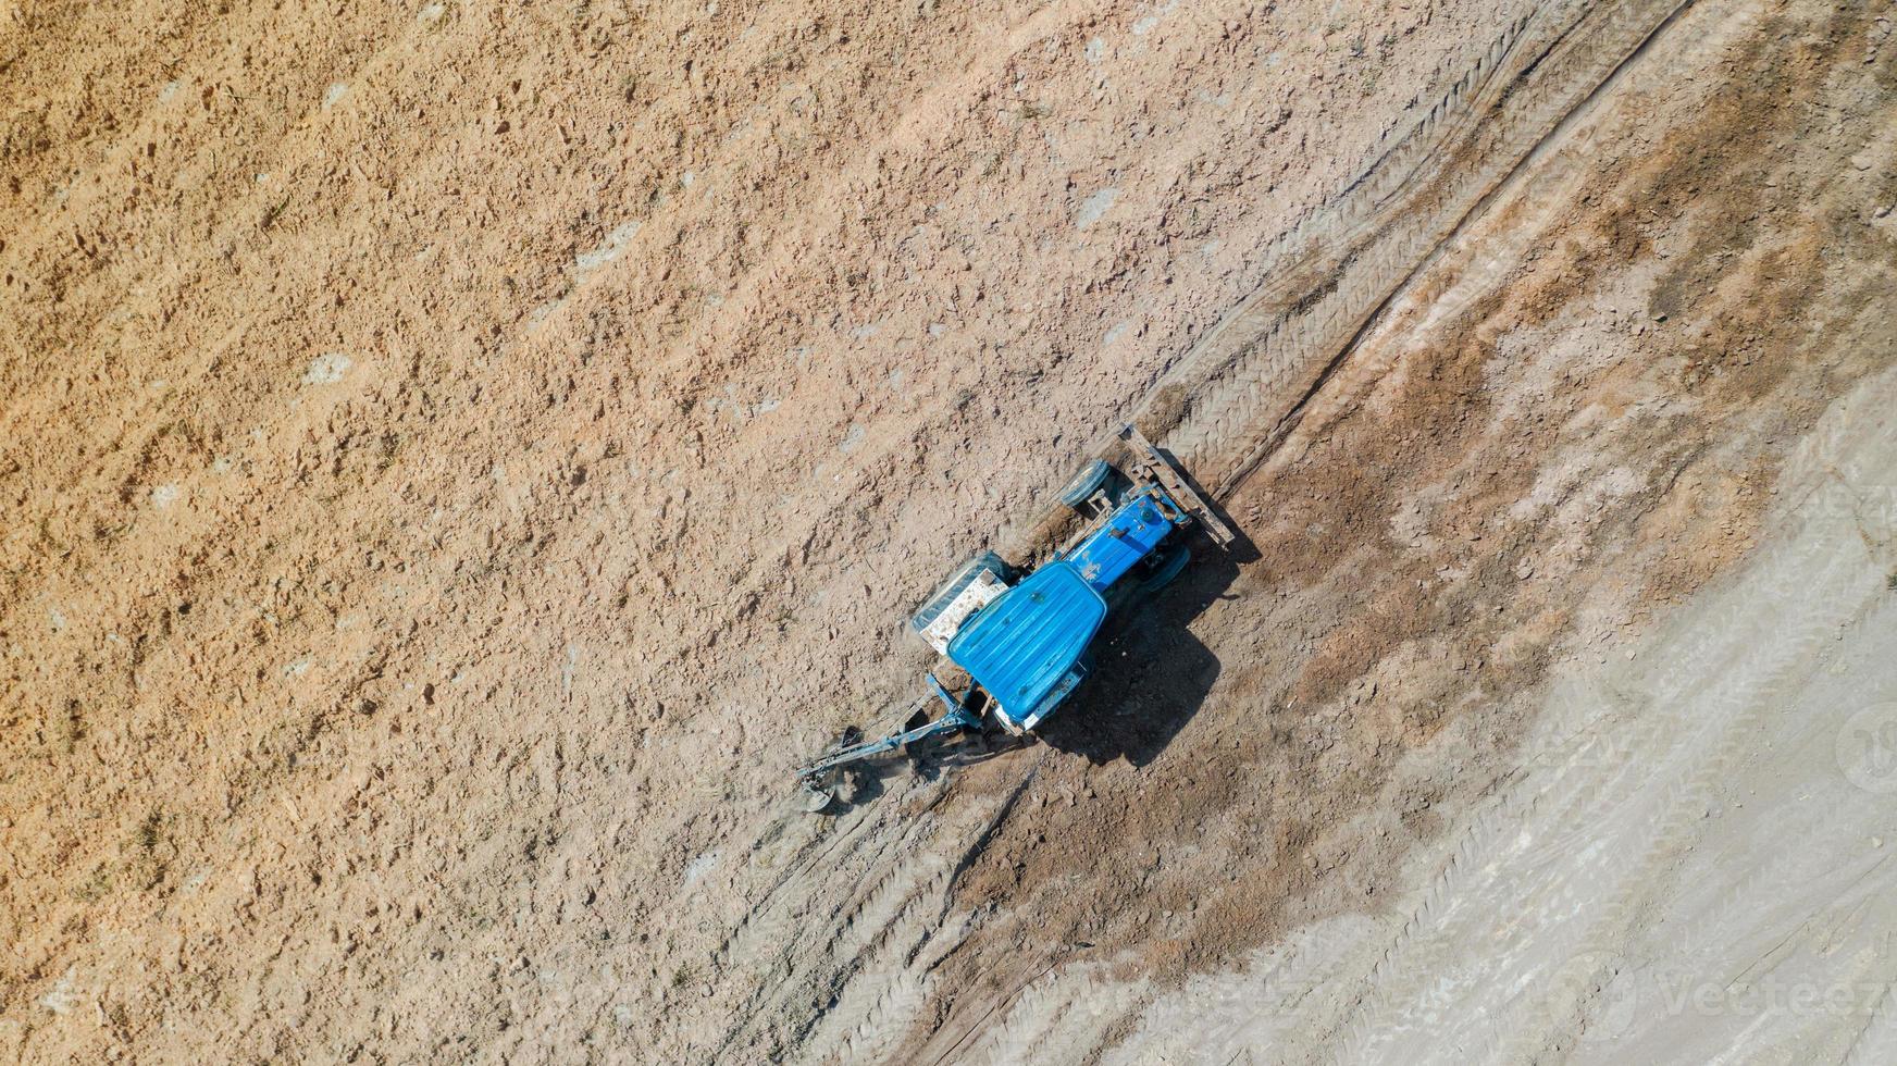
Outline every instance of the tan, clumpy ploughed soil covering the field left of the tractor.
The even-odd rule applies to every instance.
[[[935,8],[0,15],[0,1053],[903,1039],[1005,800],[763,781],[1487,17]]]

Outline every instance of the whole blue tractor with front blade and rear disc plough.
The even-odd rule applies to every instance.
[[[983,730],[986,721],[1022,736],[1047,721],[1087,679],[1087,654],[1110,603],[1134,586],[1157,588],[1189,560],[1180,542],[1197,524],[1220,546],[1231,529],[1138,429],[1119,431],[1125,469],[1095,459],[1060,489],[1081,527],[1032,573],[981,552],[935,588],[909,628],[967,673],[956,694],[931,673],[907,728],[848,744],[799,770],[806,808],[838,797],[838,770],[931,736]],[[941,717],[930,719],[930,704]]]

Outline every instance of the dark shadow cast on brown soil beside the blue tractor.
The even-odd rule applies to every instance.
[[[1220,518],[1231,525],[1224,512]],[[1186,626],[1231,597],[1239,567],[1258,560],[1258,548],[1237,525],[1233,531],[1225,550],[1193,537],[1191,561],[1170,584],[1138,592],[1115,611],[1095,645],[1093,677],[1040,728],[1041,742],[1095,766],[1115,759],[1146,766],[1172,744],[1222,670]]]

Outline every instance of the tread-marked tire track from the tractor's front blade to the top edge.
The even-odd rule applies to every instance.
[[[1512,23],[1372,173],[1282,239],[1263,288],[1159,381],[1136,421],[1229,495],[1391,298],[1688,2]]]

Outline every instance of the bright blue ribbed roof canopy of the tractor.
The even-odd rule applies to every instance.
[[[962,624],[948,658],[1013,723],[1022,723],[1093,643],[1106,599],[1072,563],[1055,561]]]

